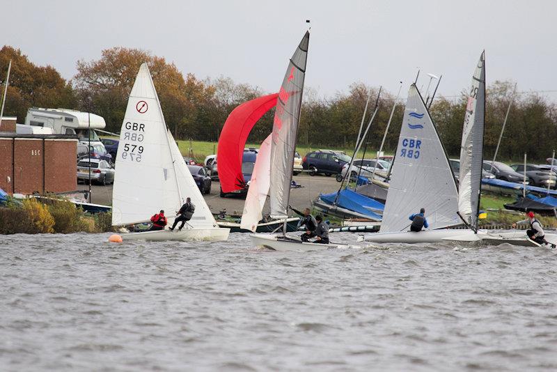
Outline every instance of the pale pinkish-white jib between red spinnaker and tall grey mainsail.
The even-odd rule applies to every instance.
[[[257,230],[258,222],[262,219],[262,210],[269,194],[271,185],[271,141],[272,134],[262,142],[256,158],[256,165],[253,166],[253,174],[249,182],[248,195],[244,203],[244,212],[240,227]]]

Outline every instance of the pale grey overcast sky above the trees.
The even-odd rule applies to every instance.
[[[9,1],[0,42],[63,77],[78,59],[133,47],[196,77],[231,77],[277,91],[311,20],[306,86],[329,96],[353,82],[391,93],[421,68],[443,75],[439,92],[468,88],[486,50],[487,84],[557,91],[557,1]],[[3,73],[3,72],[2,72]],[[544,93],[557,100],[557,93]]]

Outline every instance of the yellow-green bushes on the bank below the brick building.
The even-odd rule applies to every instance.
[[[88,215],[70,201],[8,200],[0,208],[1,234],[103,233],[112,231],[111,213]]]

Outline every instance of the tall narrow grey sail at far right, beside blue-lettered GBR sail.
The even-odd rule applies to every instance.
[[[472,77],[460,147],[458,210],[474,230],[478,228],[482,183],[483,135],[485,125],[485,52]]]

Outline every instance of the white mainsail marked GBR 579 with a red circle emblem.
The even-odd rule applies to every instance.
[[[112,224],[146,222],[180,198],[166,124],[146,63],[137,74],[120,130],[112,194]]]

